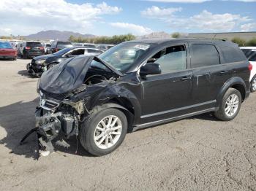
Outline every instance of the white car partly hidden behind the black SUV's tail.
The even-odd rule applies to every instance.
[[[248,61],[252,64],[251,76],[249,78],[251,82],[251,92],[256,91],[256,47],[241,47],[241,50],[248,58]]]

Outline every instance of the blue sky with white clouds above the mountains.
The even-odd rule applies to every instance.
[[[256,31],[256,0],[1,0],[0,36]]]

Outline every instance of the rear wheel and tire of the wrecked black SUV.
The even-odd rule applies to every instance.
[[[214,112],[215,117],[222,121],[233,120],[241,108],[241,100],[241,93],[229,88],[222,98],[218,111]]]

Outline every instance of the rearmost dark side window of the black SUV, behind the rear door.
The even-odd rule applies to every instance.
[[[246,61],[244,53],[237,47],[219,46],[224,63]]]

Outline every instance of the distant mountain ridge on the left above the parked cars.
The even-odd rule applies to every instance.
[[[67,41],[69,36],[81,36],[83,38],[90,38],[94,37],[93,34],[80,34],[75,33],[72,31],[56,31],[56,30],[49,30],[49,31],[40,31],[37,34],[30,34],[28,36],[24,36],[25,39],[31,40],[50,40],[50,39],[59,39],[62,41]]]

